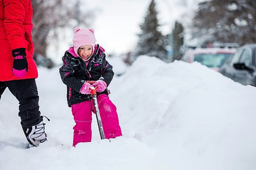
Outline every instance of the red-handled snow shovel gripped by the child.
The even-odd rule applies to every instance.
[[[90,84],[95,83],[95,81],[86,81],[86,82],[90,83]],[[100,138],[105,139],[105,134],[104,134],[104,131],[103,131],[103,126],[102,126],[102,122],[101,122],[101,118],[100,118],[100,114],[99,114],[99,106],[98,106],[97,94],[96,94],[97,88],[98,87],[96,86],[96,87],[90,87],[89,89],[90,89],[91,96],[92,96],[92,99],[93,99],[93,105],[94,105],[96,119],[97,119],[97,123],[98,123]]]

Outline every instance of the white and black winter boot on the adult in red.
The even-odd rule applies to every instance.
[[[32,127],[23,127],[23,131],[29,142],[29,148],[38,147],[40,143],[47,141],[45,124],[43,121]]]

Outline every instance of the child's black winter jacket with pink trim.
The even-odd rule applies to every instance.
[[[69,107],[92,99],[90,94],[80,93],[80,88],[84,81],[96,81],[102,77],[101,80],[103,79],[103,81],[105,81],[109,86],[114,76],[112,65],[106,61],[105,54],[100,51],[99,45],[97,45],[96,51],[90,58],[87,66],[80,57],[72,55],[70,50],[65,52],[65,55],[62,57],[62,61],[63,65],[59,68],[59,73],[62,82],[67,85],[67,99]],[[97,95],[103,93],[108,94],[107,89],[101,93],[97,93]]]

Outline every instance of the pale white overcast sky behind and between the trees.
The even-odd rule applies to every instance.
[[[173,29],[175,19],[188,24],[196,2],[202,0],[155,0],[160,31],[166,35]],[[95,30],[97,43],[105,48],[106,54],[123,54],[133,51],[138,42],[140,24],[143,23],[151,0],[84,0],[81,10],[96,12],[91,28]],[[60,30],[62,32],[63,30]],[[48,56],[61,63],[64,52],[72,45],[73,30],[65,30],[63,39],[50,39]],[[57,48],[57,49],[56,49]]]

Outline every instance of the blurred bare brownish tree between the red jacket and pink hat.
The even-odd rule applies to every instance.
[[[46,63],[44,66],[51,67],[52,62],[46,59],[46,50],[48,46],[47,38],[49,32],[56,30],[59,27],[74,27],[76,25],[77,10],[79,8],[76,6],[77,1],[69,0],[33,0],[33,42],[35,45],[34,59],[37,64],[41,63],[38,56],[45,58]],[[79,13],[81,23],[87,25],[88,20],[92,18],[92,12],[80,12]],[[72,22],[73,21],[73,22]],[[75,23],[75,24],[74,24]],[[54,34],[56,38],[57,34]],[[53,37],[52,37],[53,38]]]

